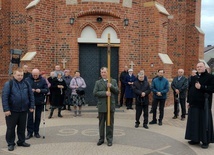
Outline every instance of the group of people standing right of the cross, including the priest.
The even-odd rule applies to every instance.
[[[181,108],[181,120],[185,120],[188,114],[185,139],[190,140],[190,145],[201,144],[202,148],[208,148],[209,143],[214,142],[213,121],[212,121],[212,93],[214,93],[214,76],[206,70],[204,62],[199,62],[196,70],[192,70],[189,78],[184,76],[184,70],[179,69],[178,75],[173,78],[171,89],[174,96],[174,116],[177,119]],[[120,75],[121,96],[120,106],[123,106],[124,96],[127,109],[132,109],[133,98],[135,98],[136,116],[135,127],[140,124],[140,117],[143,112],[143,127],[148,129],[148,105],[149,94],[152,92],[152,121],[150,125],[162,125],[164,117],[164,106],[169,91],[169,81],[163,76],[164,70],[160,69],[157,76],[152,79],[151,86],[140,71],[137,78],[133,70],[125,66]],[[128,91],[127,91],[128,90]],[[127,92],[131,92],[127,94]],[[188,103],[188,112],[186,109]],[[159,119],[157,120],[157,107],[159,106]],[[180,107],[180,108],[179,108]]]

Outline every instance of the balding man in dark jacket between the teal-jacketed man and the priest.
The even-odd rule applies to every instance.
[[[173,119],[178,117],[179,103],[181,105],[181,120],[185,119],[186,115],[186,93],[188,87],[188,80],[184,77],[184,70],[178,70],[178,76],[172,81],[171,88],[174,95],[174,116]]]

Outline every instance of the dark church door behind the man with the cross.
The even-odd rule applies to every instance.
[[[93,89],[100,78],[100,68],[107,67],[107,48],[97,47],[97,44],[79,44],[79,49],[79,69],[87,85],[86,104],[96,105]],[[111,48],[111,77],[118,81],[118,47]]]

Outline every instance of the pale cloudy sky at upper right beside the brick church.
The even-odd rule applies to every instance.
[[[214,0],[201,1],[201,29],[205,33],[204,46],[214,46]]]

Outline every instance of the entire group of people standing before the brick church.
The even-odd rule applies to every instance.
[[[48,84],[44,78],[39,75],[39,70],[34,69],[30,77],[23,80],[23,71],[17,69],[14,71],[14,78],[11,81],[5,83],[2,92],[2,104],[5,112],[7,132],[6,141],[8,143],[8,150],[12,151],[15,146],[15,127],[18,133],[18,146],[29,147],[30,144],[25,142],[25,126],[27,113],[28,114],[28,137],[32,137],[34,133],[35,137],[39,138],[39,119],[34,123],[29,123],[32,120],[32,112],[37,111],[36,116],[41,118],[41,105],[43,105],[44,95],[40,93],[48,93],[53,95],[51,100],[51,113],[49,118],[53,115],[53,110],[58,108],[58,116],[61,115],[61,106],[54,104],[62,103],[66,97],[58,97],[65,94],[67,88],[71,88],[71,94],[73,103],[76,107],[79,106],[79,111],[74,108],[74,115],[77,113],[81,115],[81,105],[84,103],[84,98],[77,96],[75,89],[79,87],[86,87],[83,78],[80,77],[79,71],[75,72],[75,77],[70,81],[70,84],[66,84],[63,80],[63,72],[54,72],[55,78]],[[53,74],[54,74],[53,73]],[[99,140],[97,145],[100,146],[104,143],[105,138],[107,145],[112,146],[113,144],[113,129],[114,129],[114,112],[116,98],[119,94],[119,88],[115,79],[108,79],[108,69],[102,67],[100,69],[101,79],[97,80],[94,86],[93,95],[97,97],[97,108],[99,118]],[[140,71],[137,77],[133,75],[133,69],[125,67],[124,72],[121,74],[121,98],[120,105],[123,105],[123,97],[126,98],[127,109],[132,108],[133,98],[135,98],[136,105],[136,117],[135,127],[138,128],[140,124],[140,117],[143,112],[144,120],[143,127],[148,129],[149,124],[162,125],[164,117],[164,106],[167,99],[167,93],[169,91],[169,81],[163,76],[164,70],[160,69],[157,72],[157,76],[152,80],[151,86],[145,76],[144,71]],[[54,82],[55,81],[55,82]],[[64,82],[63,82],[64,81]],[[12,85],[11,85],[12,83]],[[67,82],[69,83],[69,82]],[[179,108],[181,106],[181,120],[185,119],[186,116],[186,98],[188,105],[188,119],[186,126],[185,139],[190,140],[190,145],[197,145],[202,142],[202,148],[208,148],[209,143],[214,142],[213,134],[213,122],[212,122],[212,93],[214,93],[214,76],[209,74],[206,70],[205,64],[199,62],[197,64],[197,72],[192,75],[189,79],[184,77],[184,70],[178,70],[178,76],[172,81],[171,88],[174,94],[174,116],[176,119],[179,115]],[[122,91],[123,89],[123,91]],[[54,94],[53,92],[56,94]],[[126,94],[126,93],[132,93]],[[149,94],[153,93],[152,110],[153,117],[152,121],[148,122],[148,106],[149,106]],[[187,94],[187,96],[186,96]],[[129,96],[130,95],[130,96]],[[57,99],[56,99],[57,98]],[[110,99],[110,100],[109,100]],[[110,101],[110,102],[109,102]],[[110,104],[110,111],[108,111],[108,104]],[[157,120],[157,106],[159,106],[159,118]],[[107,113],[110,112],[110,118],[107,117]],[[110,119],[110,120],[108,120]],[[107,125],[107,121],[110,124]],[[106,132],[106,133],[105,133]]]

